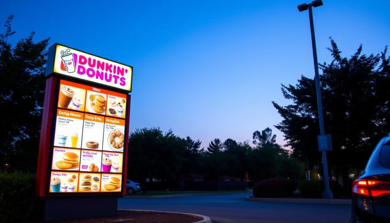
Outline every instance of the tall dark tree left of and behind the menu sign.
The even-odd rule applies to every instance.
[[[0,156],[15,169],[35,172],[49,39],[34,43],[32,32],[12,48],[13,18],[8,17],[6,33],[0,34]]]

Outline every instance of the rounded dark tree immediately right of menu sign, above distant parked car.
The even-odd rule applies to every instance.
[[[127,175],[144,185],[146,178],[173,182],[180,174],[185,150],[185,140],[172,131],[163,134],[159,128],[137,129],[129,137]]]

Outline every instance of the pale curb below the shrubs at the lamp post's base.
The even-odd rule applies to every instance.
[[[300,203],[300,204],[351,204],[350,199],[306,199],[306,198],[251,198],[244,201],[271,203]]]

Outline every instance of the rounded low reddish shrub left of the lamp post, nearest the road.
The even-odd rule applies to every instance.
[[[253,196],[256,198],[283,197],[293,195],[297,184],[289,179],[265,179],[253,187]]]

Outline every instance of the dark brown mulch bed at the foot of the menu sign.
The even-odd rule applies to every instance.
[[[153,211],[125,211],[118,210],[117,216],[115,217],[99,217],[79,220],[66,220],[56,221],[57,223],[190,223],[203,220],[202,217],[178,214],[178,213],[166,213],[166,212],[153,212]],[[38,223],[42,221],[29,221],[28,223]]]

